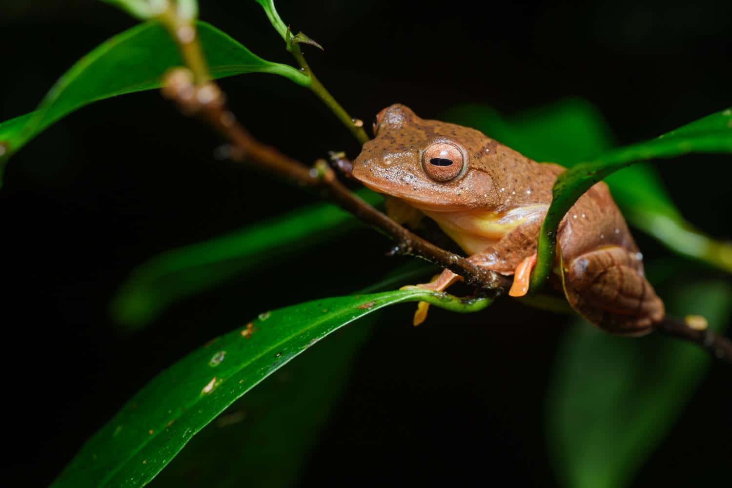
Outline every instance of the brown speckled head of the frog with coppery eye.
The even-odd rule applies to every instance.
[[[376,137],[364,144],[353,169],[370,189],[429,211],[475,209],[496,200],[486,170],[495,141],[481,132],[420,119],[399,104],[381,110],[373,130]]]

